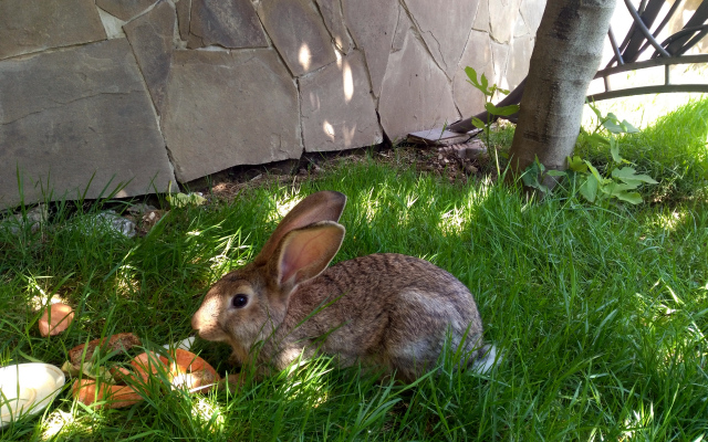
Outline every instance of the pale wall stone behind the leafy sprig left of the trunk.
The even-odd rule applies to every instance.
[[[493,83],[494,69],[491,59],[491,43],[489,36],[485,32],[472,31],[469,41],[460,59],[459,69],[452,78],[452,92],[455,94],[455,103],[462,113],[464,118],[485,110],[485,95],[467,83],[467,74],[465,67],[471,66],[477,71],[477,78],[483,73],[489,83]]]

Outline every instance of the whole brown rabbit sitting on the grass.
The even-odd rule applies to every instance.
[[[446,340],[464,343],[464,364],[491,367],[475,299],[448,272],[394,253],[326,269],[342,245],[345,203],[321,191],[295,206],[252,263],[209,290],[191,318],[199,336],[230,344],[241,364],[258,357],[277,370],[322,352],[409,382],[434,367]]]

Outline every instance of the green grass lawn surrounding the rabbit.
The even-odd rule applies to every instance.
[[[650,151],[658,141],[646,134],[637,146],[647,165],[704,160],[680,143]],[[653,136],[662,139],[658,129]],[[60,207],[40,232],[0,231],[0,365],[28,356],[61,365],[75,345],[111,333],[136,333],[148,346],[189,336],[209,284],[251,259],[280,217],[320,189],[350,198],[335,261],[400,252],[450,271],[470,287],[504,359],[480,376],[450,370],[447,355],[440,372],[400,386],[322,358],[239,392],[186,396],[156,382],[145,387],[148,400],[123,410],[80,407],[66,389],[0,439],[705,439],[708,202],[696,197],[701,180],[681,179],[693,198],[596,207],[563,192],[524,201],[504,186],[342,162],[298,189],[269,185],[230,203],[173,210],[139,239],[75,228],[102,204]],[[53,294],[76,320],[41,338],[30,301]],[[230,369],[222,346],[198,348]]]

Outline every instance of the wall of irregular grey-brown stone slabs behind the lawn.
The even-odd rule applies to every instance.
[[[3,0],[0,209],[396,140],[513,88],[544,0]],[[19,179],[18,179],[19,178]]]

